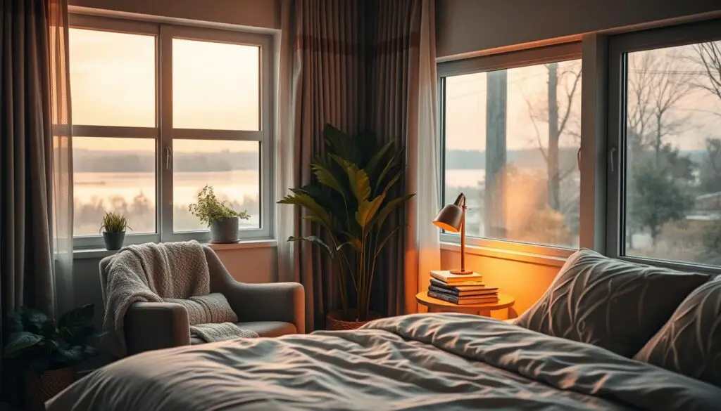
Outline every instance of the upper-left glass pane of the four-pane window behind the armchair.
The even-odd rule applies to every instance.
[[[74,125],[155,127],[155,37],[70,29]]]

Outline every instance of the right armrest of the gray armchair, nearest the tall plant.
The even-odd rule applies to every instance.
[[[305,290],[298,283],[247,284],[229,281],[225,297],[240,322],[283,321],[306,332]]]

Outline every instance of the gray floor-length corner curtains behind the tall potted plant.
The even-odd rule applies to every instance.
[[[417,81],[423,4],[424,0],[283,3],[279,197],[290,187],[311,183],[309,163],[322,153],[326,123],[351,134],[371,130],[381,140],[407,147],[414,132],[409,123],[417,119],[418,91],[412,83]],[[397,190],[405,191],[406,186],[407,182],[397,184]],[[281,281],[300,281],[306,287],[306,326],[314,330],[323,327],[324,315],[339,302],[331,267],[320,251],[284,241],[289,235],[318,234],[318,227],[300,220],[300,213],[278,208],[279,272]],[[404,211],[394,216],[398,225],[406,224],[407,217]],[[376,268],[371,308],[382,315],[399,315],[411,310],[408,290],[417,289],[417,275],[407,278],[404,272],[404,235],[395,236],[386,247]]]

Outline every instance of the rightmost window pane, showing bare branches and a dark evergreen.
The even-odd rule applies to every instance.
[[[627,58],[626,254],[721,264],[721,42]]]

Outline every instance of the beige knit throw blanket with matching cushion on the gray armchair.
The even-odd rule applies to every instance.
[[[188,312],[191,333],[208,342],[257,337],[233,322],[238,318],[222,294],[209,294],[210,274],[197,241],[130,245],[118,251],[104,272],[105,329],[114,351],[125,355],[123,323],[133,302],[175,302]]]

